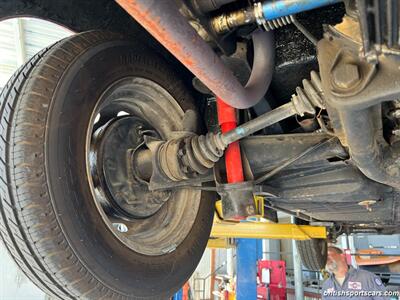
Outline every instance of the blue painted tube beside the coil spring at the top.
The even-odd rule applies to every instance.
[[[266,20],[274,20],[341,1],[342,0],[269,0],[262,4],[262,8],[264,18]]]

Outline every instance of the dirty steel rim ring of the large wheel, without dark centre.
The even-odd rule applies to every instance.
[[[111,106],[118,112],[142,118],[153,126],[162,139],[169,138],[173,131],[181,130],[184,111],[157,83],[141,77],[129,77],[114,82],[106,89],[98,99],[87,127],[87,176],[92,198],[103,222],[121,243],[137,253],[150,256],[170,253],[189,234],[199,210],[201,194],[187,189],[175,191],[159,211],[147,218],[110,216],[102,205],[107,195],[93,178],[90,153],[96,117]]]

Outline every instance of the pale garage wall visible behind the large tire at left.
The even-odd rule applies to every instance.
[[[72,32],[37,19],[11,19],[0,22],[0,90],[15,70],[42,48]],[[49,299],[17,268],[0,242],[0,299]]]

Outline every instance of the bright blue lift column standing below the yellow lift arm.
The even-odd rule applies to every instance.
[[[257,240],[236,240],[236,299],[257,299]]]

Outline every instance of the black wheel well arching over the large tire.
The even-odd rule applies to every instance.
[[[15,17],[51,21],[74,32],[103,29],[141,40],[173,64],[182,80],[192,87],[193,75],[113,0],[0,0],[0,21]],[[192,90],[200,100],[201,95]]]

